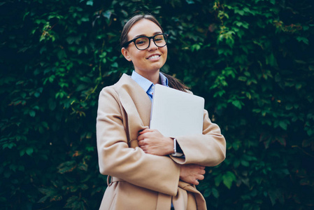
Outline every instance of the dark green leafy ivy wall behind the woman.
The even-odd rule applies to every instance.
[[[206,98],[227,159],[199,190],[210,209],[314,205],[312,0],[4,0],[0,3],[0,208],[98,209],[98,94],[132,66],[122,25],[158,18],[162,69]]]

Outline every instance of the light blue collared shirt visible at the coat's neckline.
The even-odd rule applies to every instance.
[[[164,76],[164,74],[162,74],[161,72],[159,72],[159,77],[162,85],[169,87],[168,78],[166,78],[166,76]],[[131,78],[134,81],[136,81],[136,83],[138,83],[138,85],[140,85],[143,88],[143,90],[145,90],[145,92],[148,94],[148,97],[150,97],[150,101],[152,101],[152,93],[154,92],[155,89],[154,83],[152,83],[147,78],[141,76],[140,74],[136,73],[136,71],[132,72]]]

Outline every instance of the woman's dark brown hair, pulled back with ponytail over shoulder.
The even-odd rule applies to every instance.
[[[131,18],[123,27],[122,29],[122,33],[121,33],[121,37],[120,37],[120,46],[121,48],[123,48],[124,44],[127,43],[129,41],[129,31],[131,29],[131,27],[133,27],[134,24],[136,24],[136,22],[138,22],[139,20],[150,20],[152,22],[154,22],[160,29],[162,29],[162,26],[159,24],[158,20],[149,14],[145,14],[145,15],[135,15],[133,18]],[[164,29],[162,29],[162,33],[164,33]],[[166,76],[166,78],[168,79],[168,85],[169,87],[172,87],[174,89],[177,90],[181,90],[183,92],[187,92],[187,90],[189,89],[189,87],[185,86],[183,83],[180,83],[180,81],[177,78],[174,78],[173,76],[170,76],[169,74],[163,73],[164,76]]]

